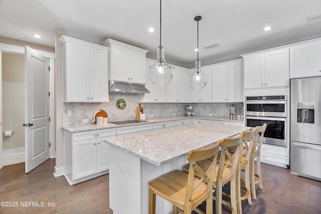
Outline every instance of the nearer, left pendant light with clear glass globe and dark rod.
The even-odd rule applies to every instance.
[[[157,47],[157,58],[153,65],[148,67],[149,79],[157,85],[168,84],[174,75],[175,68],[168,64],[164,57],[164,48],[162,46],[162,0],[160,11],[160,24],[159,24],[159,46]]]

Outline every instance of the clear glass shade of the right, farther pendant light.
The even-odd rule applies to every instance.
[[[208,75],[201,70],[201,61],[195,61],[195,70],[187,76],[187,81],[192,89],[203,89],[207,84]]]

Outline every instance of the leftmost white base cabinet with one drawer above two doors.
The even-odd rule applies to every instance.
[[[64,131],[65,177],[69,184],[108,173],[109,144],[116,128],[70,133]]]

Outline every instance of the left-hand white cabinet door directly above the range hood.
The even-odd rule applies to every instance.
[[[110,80],[130,81],[130,49],[112,44],[110,46]]]

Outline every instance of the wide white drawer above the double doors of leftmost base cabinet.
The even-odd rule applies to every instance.
[[[116,136],[116,128],[76,132],[72,134],[72,141],[78,142],[83,140],[96,139],[97,137],[107,138],[112,136]]]

